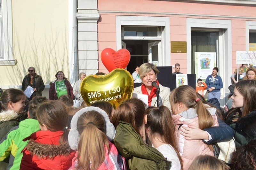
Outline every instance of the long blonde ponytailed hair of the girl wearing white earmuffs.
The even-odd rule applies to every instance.
[[[77,147],[76,169],[98,169],[105,159],[105,146],[109,151],[103,116],[96,111],[85,112],[77,121],[77,130],[80,133],[80,140]]]

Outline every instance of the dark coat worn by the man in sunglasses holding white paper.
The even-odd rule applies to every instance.
[[[22,81],[21,89],[25,91],[28,86],[31,86],[32,88],[36,88],[36,91],[34,91],[34,93],[31,95],[29,99],[32,99],[35,96],[42,96],[42,91],[44,90],[44,81],[40,75],[36,74],[36,76],[33,77],[32,85],[30,84],[29,74],[26,75]]]

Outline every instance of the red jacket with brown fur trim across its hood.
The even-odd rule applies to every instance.
[[[40,130],[23,139],[30,141],[22,151],[20,169],[68,169],[72,165],[75,151],[70,149],[68,143],[59,143],[62,134],[63,131]]]

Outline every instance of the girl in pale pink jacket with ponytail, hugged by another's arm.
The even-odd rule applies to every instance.
[[[213,156],[213,147],[204,143],[203,140],[189,140],[189,137],[185,137],[180,129],[188,125],[193,125],[200,129],[219,126],[217,115],[215,114],[216,108],[204,104],[197,97],[195,89],[186,85],[172,90],[170,103],[172,106],[172,119],[175,125],[176,142],[183,160],[183,168],[187,170],[196,156]],[[182,125],[179,125],[180,122],[182,122]]]

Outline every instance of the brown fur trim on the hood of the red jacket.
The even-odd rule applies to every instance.
[[[32,139],[29,140],[26,149],[38,158],[53,158],[60,155],[68,156],[71,151],[68,143],[59,145],[43,144],[37,143]]]

